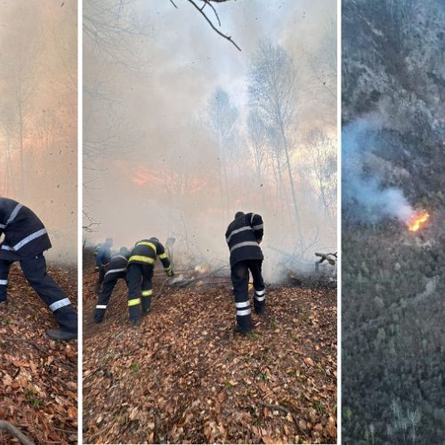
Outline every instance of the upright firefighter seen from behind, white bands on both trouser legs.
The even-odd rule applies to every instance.
[[[231,283],[237,308],[237,330],[247,334],[253,328],[248,295],[249,271],[254,279],[254,309],[262,315],[266,308],[262,275],[263,218],[259,214],[237,212],[225,233],[231,251]]]

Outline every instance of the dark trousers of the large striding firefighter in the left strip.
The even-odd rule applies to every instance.
[[[0,302],[6,301],[8,275],[13,261],[0,260]],[[46,261],[43,254],[20,260],[20,268],[38,296],[53,312],[61,328],[77,332],[77,312],[61,287],[46,273]],[[26,304],[26,303],[23,303]]]

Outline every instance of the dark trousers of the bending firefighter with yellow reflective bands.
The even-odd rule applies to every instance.
[[[128,312],[132,322],[141,320],[150,311],[154,267],[152,264],[129,263],[126,268],[128,283]]]

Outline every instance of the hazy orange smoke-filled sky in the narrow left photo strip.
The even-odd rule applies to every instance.
[[[77,2],[8,0],[0,17],[0,194],[42,219],[50,260],[74,263]]]

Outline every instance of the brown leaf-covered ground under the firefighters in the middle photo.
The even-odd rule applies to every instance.
[[[84,277],[85,443],[336,443],[336,289],[269,287],[241,337],[229,283],[166,285],[133,328],[124,283],[93,324]]]

